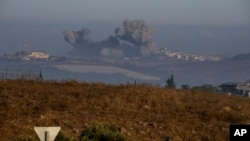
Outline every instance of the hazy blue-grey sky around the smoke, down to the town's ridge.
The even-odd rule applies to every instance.
[[[26,38],[49,53],[67,52],[71,47],[63,30],[88,26],[94,39],[104,39],[125,19],[143,19],[153,26],[160,47],[213,54],[250,52],[250,31],[239,28],[250,27],[250,0],[0,0],[0,55],[20,49]]]

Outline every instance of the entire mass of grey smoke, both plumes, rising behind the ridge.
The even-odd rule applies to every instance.
[[[91,30],[88,28],[80,31],[66,30],[63,34],[64,39],[74,46],[73,53],[85,56],[131,57],[159,53],[153,40],[153,29],[143,20],[125,20],[121,27],[115,29],[115,36],[111,35],[100,42],[92,41]]]

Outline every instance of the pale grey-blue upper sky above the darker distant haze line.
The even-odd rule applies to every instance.
[[[0,20],[250,24],[249,0],[1,0]]]

